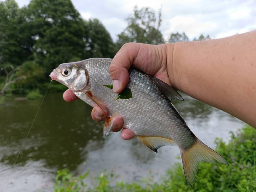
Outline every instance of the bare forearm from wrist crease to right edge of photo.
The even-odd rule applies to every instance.
[[[256,127],[256,31],[176,43],[167,66],[178,90]]]

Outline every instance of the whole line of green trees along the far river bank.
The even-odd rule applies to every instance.
[[[12,72],[6,66],[20,66],[14,77],[26,77],[10,83],[9,92],[26,93],[49,82],[49,73],[60,63],[113,58],[126,42],[164,43],[161,11],[135,7],[126,20],[127,27],[114,42],[97,18],[84,20],[70,0],[31,0],[22,8],[15,0],[0,2],[0,91],[6,70]],[[177,41],[188,37],[172,33],[169,42]]]

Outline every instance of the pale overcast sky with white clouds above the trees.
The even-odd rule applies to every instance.
[[[29,0],[16,0],[20,7]],[[84,19],[98,18],[112,38],[127,26],[125,18],[133,7],[162,7],[164,39],[171,33],[185,32],[190,39],[201,33],[212,38],[230,36],[256,29],[255,0],[72,0]]]

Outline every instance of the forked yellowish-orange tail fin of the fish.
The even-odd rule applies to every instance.
[[[191,148],[187,150],[180,149],[180,154],[184,174],[191,187],[195,184],[195,174],[197,172],[199,161],[205,161],[213,164],[216,164],[216,161],[219,161],[222,164],[228,165],[228,162],[221,157],[220,154],[206,146],[198,138],[196,138],[196,143]]]

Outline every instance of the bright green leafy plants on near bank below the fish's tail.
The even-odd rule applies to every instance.
[[[256,130],[250,126],[244,127],[237,136],[231,133],[231,140],[225,144],[222,140],[216,139],[216,151],[219,152],[229,163],[229,166],[222,164],[212,165],[201,163],[198,168],[196,184],[193,188],[186,182],[183,168],[180,163],[175,164],[166,172],[164,178],[159,182],[153,182],[147,178],[141,182],[131,184],[123,181],[113,184],[113,174],[103,172],[96,178],[97,184],[94,187],[86,188],[81,184],[88,175],[74,177],[67,171],[58,172],[55,183],[56,192],[87,191],[87,192],[247,192],[256,191]],[[60,180],[60,173],[66,179]],[[62,175],[63,177],[63,175]],[[66,186],[75,186],[74,190]],[[110,183],[112,183],[110,185]],[[61,188],[61,190],[60,190]]]

